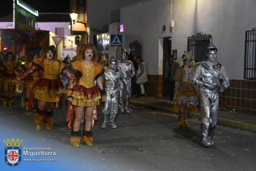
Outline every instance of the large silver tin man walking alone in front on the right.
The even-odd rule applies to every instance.
[[[230,85],[230,77],[225,67],[216,61],[217,48],[211,42],[207,47],[208,60],[198,64],[193,84],[198,86],[201,100],[201,144],[205,147],[214,145],[212,137],[218,122],[219,96]],[[220,84],[219,79],[223,80]]]

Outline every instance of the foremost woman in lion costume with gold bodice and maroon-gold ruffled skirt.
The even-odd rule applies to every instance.
[[[96,47],[92,43],[82,44],[78,51],[77,60],[68,67],[68,73],[71,77],[67,99],[72,102],[75,113],[70,137],[73,147],[80,145],[80,124],[83,113],[85,113],[83,140],[85,145],[93,145],[93,132],[91,130],[93,109],[100,104],[99,99],[102,98],[102,101],[105,101],[105,97],[101,96],[105,95],[105,90],[99,78],[104,73],[104,69],[97,63],[97,58]],[[99,88],[94,85],[94,80],[96,80]],[[68,108],[67,110],[71,109]]]

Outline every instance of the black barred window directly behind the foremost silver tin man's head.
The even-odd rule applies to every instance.
[[[206,35],[202,32],[188,37],[187,51],[192,51],[196,62],[206,61],[206,49],[210,43],[210,38],[212,38],[212,35]]]

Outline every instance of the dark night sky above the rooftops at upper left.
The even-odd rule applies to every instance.
[[[4,0],[0,6],[0,17],[12,14],[13,0]],[[70,12],[70,0],[23,0],[38,12]]]

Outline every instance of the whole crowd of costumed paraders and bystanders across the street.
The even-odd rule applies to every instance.
[[[179,115],[178,124],[186,129],[190,113],[201,109],[201,145],[214,145],[212,139],[218,121],[218,93],[230,85],[225,67],[217,62],[218,49],[211,42],[207,61],[195,62],[191,52],[185,52],[179,65],[172,55],[163,76],[168,83],[170,101]],[[220,80],[222,80],[220,82]],[[92,127],[98,119],[97,106],[102,107],[102,125],[116,129],[118,113],[129,114],[131,96],[147,96],[144,83],[148,81],[146,64],[141,56],[128,55],[122,48],[121,59],[102,56],[98,60],[92,43],[82,44],[77,56],[58,61],[54,46],[45,45],[40,54],[30,52],[21,63],[13,52],[0,52],[0,100],[12,106],[12,96],[23,85],[24,113],[35,113],[35,129],[52,130],[54,109],[67,101],[67,129],[70,143],[79,147],[81,136],[85,145],[93,145]],[[81,124],[83,130],[81,131]]]

